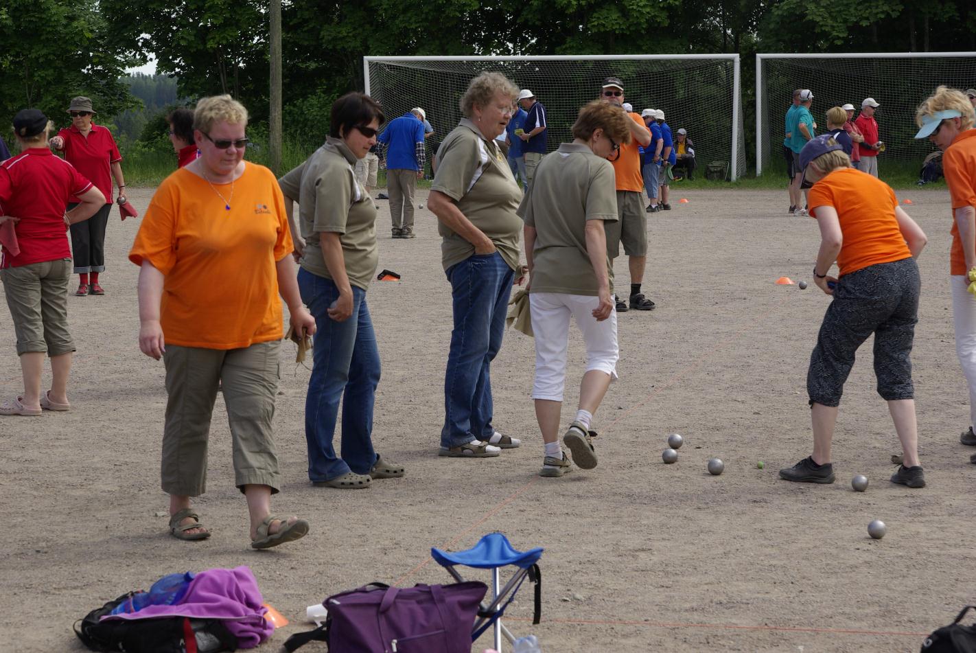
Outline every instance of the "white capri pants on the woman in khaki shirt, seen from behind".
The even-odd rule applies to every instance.
[[[563,293],[530,293],[532,332],[536,341],[536,382],[533,399],[562,401],[566,385],[566,354],[569,351],[569,318],[583,332],[587,345],[587,372],[599,370],[617,378],[617,310],[597,322],[593,309],[598,297]]]

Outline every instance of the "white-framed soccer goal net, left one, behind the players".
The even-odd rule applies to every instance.
[[[672,133],[688,131],[703,173],[712,161],[727,162],[730,179],[745,172],[738,55],[366,57],[363,67],[366,93],[387,117],[424,108],[434,141],[458,124],[458,101],[471,78],[502,72],[546,106],[550,150],[573,140],[580,107],[596,100],[603,79],[619,77],[636,113],[662,109]]]

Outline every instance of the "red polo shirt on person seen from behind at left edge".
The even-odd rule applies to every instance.
[[[3,267],[70,259],[64,207],[92,183],[46,147],[31,147],[0,163],[0,213],[14,225],[20,254],[3,249]]]

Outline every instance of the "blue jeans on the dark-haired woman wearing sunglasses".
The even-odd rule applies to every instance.
[[[366,291],[352,286],[352,315],[345,322],[326,310],[339,299],[332,279],[299,269],[302,301],[315,317],[311,378],[305,397],[308,478],[332,480],[349,470],[367,474],[376,463],[373,403],[380,384],[380,351],[366,306]],[[343,457],[332,438],[343,402]]]

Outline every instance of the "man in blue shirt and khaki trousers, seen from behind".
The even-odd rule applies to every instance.
[[[394,238],[414,237],[414,195],[424,177],[424,123],[413,112],[390,120],[377,139],[386,160],[386,192]]]

